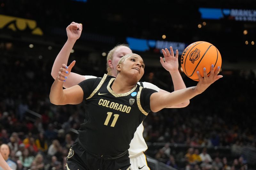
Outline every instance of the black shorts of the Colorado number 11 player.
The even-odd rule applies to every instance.
[[[118,159],[97,158],[85,151],[76,140],[69,150],[66,170],[129,170],[130,165],[128,152]]]

